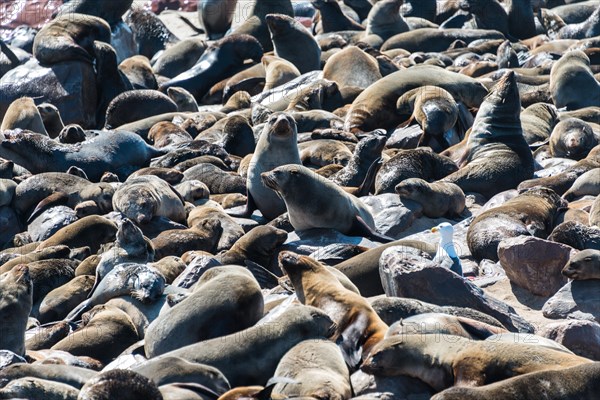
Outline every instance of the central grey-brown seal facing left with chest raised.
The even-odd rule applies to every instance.
[[[393,240],[375,230],[373,216],[362,201],[302,165],[277,167],[261,174],[261,179],[283,198],[295,230],[330,228],[381,242]],[[306,193],[310,193],[308,202]]]

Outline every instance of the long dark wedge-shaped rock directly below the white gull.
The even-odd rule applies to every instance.
[[[388,296],[408,297],[440,306],[469,307],[496,318],[509,330],[534,331],[533,326],[512,307],[424,257],[412,253],[386,257],[384,252],[379,262],[379,273]]]

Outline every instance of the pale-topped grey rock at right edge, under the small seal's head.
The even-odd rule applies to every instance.
[[[600,280],[571,281],[546,301],[544,317],[600,322]]]

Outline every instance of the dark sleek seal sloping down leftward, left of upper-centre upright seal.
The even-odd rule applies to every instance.
[[[163,83],[160,90],[179,86],[201,101],[212,85],[238,72],[244,60],[258,62],[262,56],[254,37],[232,34],[211,44],[192,68]]]

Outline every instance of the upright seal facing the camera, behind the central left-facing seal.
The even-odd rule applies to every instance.
[[[246,209],[234,216],[249,216],[255,209],[267,219],[286,211],[284,201],[261,180],[261,174],[287,164],[298,164],[298,131],[296,121],[288,113],[273,113],[265,124],[248,167]]]

